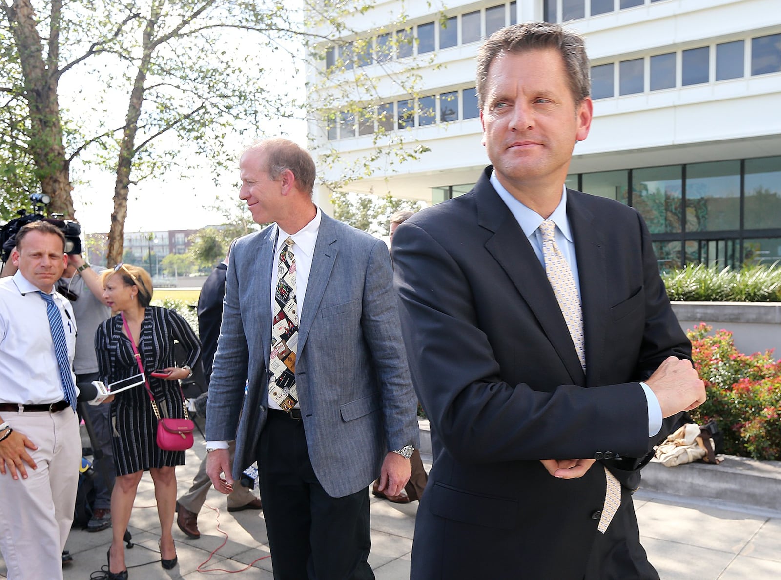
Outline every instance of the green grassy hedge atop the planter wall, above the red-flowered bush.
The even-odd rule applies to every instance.
[[[672,301],[683,302],[781,302],[781,268],[750,265],[722,270],[687,265],[662,272]]]

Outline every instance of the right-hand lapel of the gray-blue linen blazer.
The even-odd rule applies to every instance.
[[[320,228],[317,232],[315,251],[312,254],[312,269],[309,272],[304,305],[301,308],[301,322],[298,325],[297,358],[301,358],[301,351],[304,350],[306,338],[309,336],[309,330],[312,329],[312,322],[315,322],[320,301],[323,300],[323,294],[326,291],[326,286],[328,286],[333,264],[336,262],[339,246],[337,244],[335,223],[335,220],[329,215],[322,214]],[[271,308],[270,304],[269,308]]]

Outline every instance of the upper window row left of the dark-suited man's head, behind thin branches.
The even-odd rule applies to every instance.
[[[355,66],[424,55],[437,48],[479,42],[500,28],[517,22],[515,2],[499,4],[438,21],[418,24],[405,30],[387,32],[373,38],[348,42],[326,49],[326,68],[339,66],[351,70]]]

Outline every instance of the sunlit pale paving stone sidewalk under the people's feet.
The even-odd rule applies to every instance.
[[[187,452],[187,465],[177,468],[180,493],[190,486],[204,454],[202,443],[197,442]],[[662,580],[781,578],[781,513],[734,504],[717,505],[643,489],[636,494],[635,505],[643,544]],[[398,505],[372,497],[373,546],[369,564],[378,580],[409,578],[417,509],[418,503]],[[228,514],[224,497],[212,489],[199,515],[198,527],[200,539],[189,539],[174,527],[179,565],[171,571],[163,570],[157,548],[159,521],[154,489],[152,479],[144,475],[130,518],[135,546],[127,550],[128,566],[141,568],[129,568],[130,578],[273,578],[262,511]],[[223,541],[225,545],[219,547]],[[94,533],[74,529],[66,546],[74,558],[66,568],[66,580],[91,578],[105,564],[110,543],[110,529]],[[217,551],[212,559],[203,564],[213,550]],[[198,571],[201,564],[212,571]],[[227,573],[248,564],[248,570],[235,575]],[[5,578],[2,558],[0,577]]]

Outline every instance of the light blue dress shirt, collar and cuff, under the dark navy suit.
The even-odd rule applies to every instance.
[[[526,234],[526,238],[537,254],[537,259],[540,260],[540,264],[545,267],[545,261],[542,253],[542,232],[540,232],[540,224],[545,221],[545,218],[535,212],[533,209],[527,208],[518,199],[512,196],[512,194],[505,189],[499,183],[496,172],[492,171],[490,176],[490,184],[494,186],[497,194],[501,197],[501,201],[505,202],[512,215],[515,217],[515,221],[521,226],[521,230]],[[547,218],[556,224],[556,230],[554,233],[554,239],[558,248],[562,251],[565,260],[569,264],[569,268],[572,269],[572,278],[575,279],[575,286],[578,289],[578,296],[580,294],[580,272],[578,271],[578,261],[575,253],[575,242],[572,240],[572,230],[569,227],[569,219],[567,218],[567,188],[562,186],[562,201],[559,202],[553,213]],[[586,361],[588,367],[588,360]],[[662,407],[659,404],[656,395],[651,390],[651,387],[645,383],[640,383],[645,393],[645,398],[648,404],[648,436],[652,437],[656,435],[662,429]]]

